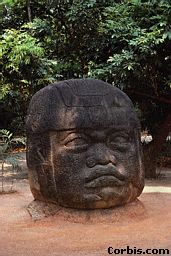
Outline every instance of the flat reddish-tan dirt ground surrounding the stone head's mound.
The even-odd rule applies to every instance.
[[[16,193],[0,195],[0,256],[105,256],[110,255],[108,247],[127,246],[134,249],[132,255],[139,248],[168,249],[171,255],[171,169],[146,181],[139,197],[143,208],[114,209],[110,214],[115,218],[100,223],[96,216],[84,223],[59,216],[35,221],[26,209],[33,200],[28,180],[17,179],[14,185]]]

